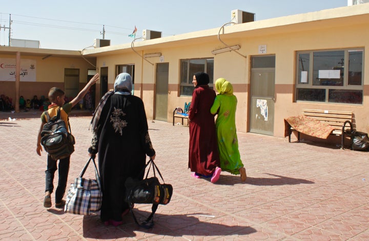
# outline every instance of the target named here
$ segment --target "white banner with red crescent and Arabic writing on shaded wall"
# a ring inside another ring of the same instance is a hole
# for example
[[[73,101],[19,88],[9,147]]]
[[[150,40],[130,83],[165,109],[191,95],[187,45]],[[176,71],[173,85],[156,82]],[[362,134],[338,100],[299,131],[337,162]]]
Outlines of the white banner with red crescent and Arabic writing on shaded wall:
[[[0,58],[0,81],[15,81],[15,59]],[[36,60],[20,60],[20,81],[36,82]]]

